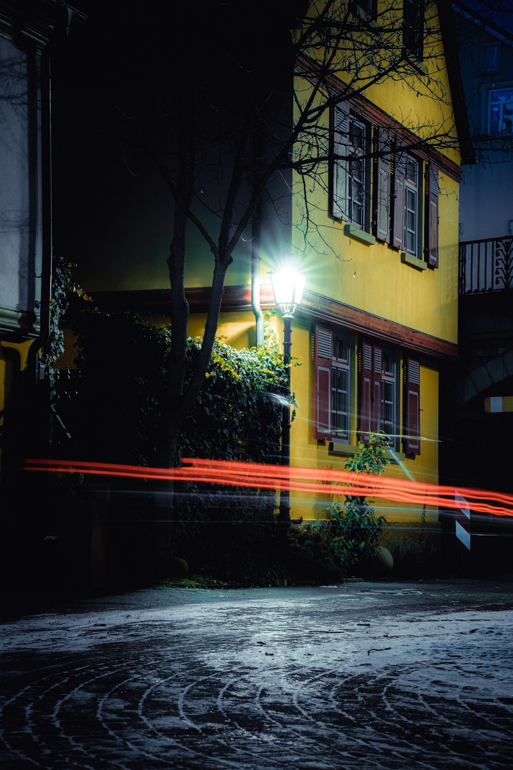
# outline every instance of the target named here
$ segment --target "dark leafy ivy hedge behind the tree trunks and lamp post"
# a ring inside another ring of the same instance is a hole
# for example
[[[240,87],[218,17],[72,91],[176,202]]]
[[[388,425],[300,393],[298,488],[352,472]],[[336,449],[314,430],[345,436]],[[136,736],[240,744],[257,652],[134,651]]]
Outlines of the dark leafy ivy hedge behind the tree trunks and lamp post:
[[[74,439],[70,457],[160,467],[170,326],[129,313],[82,311],[75,331],[78,377],[66,423]],[[189,338],[191,367],[200,346],[199,338]],[[216,340],[205,383],[182,423],[177,462],[181,457],[277,462],[286,383],[269,319],[264,346],[235,350]],[[130,504],[128,519],[144,521],[152,517],[144,503],[152,483],[113,479],[111,487],[137,484],[143,488],[134,499],[141,503]],[[275,504],[273,490],[175,483],[173,551],[193,571],[255,583],[277,561]],[[123,516],[127,511],[119,511]]]

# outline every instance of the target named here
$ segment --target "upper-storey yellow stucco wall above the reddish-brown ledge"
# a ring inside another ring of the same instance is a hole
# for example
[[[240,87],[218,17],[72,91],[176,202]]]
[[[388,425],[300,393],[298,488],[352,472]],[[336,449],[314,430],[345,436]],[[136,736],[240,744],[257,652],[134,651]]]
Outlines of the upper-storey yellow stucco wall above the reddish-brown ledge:
[[[316,3],[315,8],[323,5]],[[378,24],[390,29],[389,40],[395,39],[400,24],[401,7],[393,2],[378,2]],[[364,94],[387,115],[408,128],[412,134],[426,139],[443,155],[460,162],[458,139],[445,58],[441,47],[436,5],[426,12],[425,59],[421,70],[429,82],[409,67],[401,76],[386,77],[365,88]],[[430,32],[431,30],[431,32]],[[386,41],[385,41],[386,42]],[[397,41],[396,41],[397,42]],[[315,55],[311,52],[311,55]],[[344,72],[338,79],[351,82]],[[365,84],[365,72],[353,82]],[[311,86],[305,79],[295,82],[298,101],[308,101]],[[320,99],[316,99],[320,104]],[[296,108],[296,119],[298,119]],[[329,114],[325,109],[318,126],[321,150],[326,149]],[[415,147],[412,149],[415,153]],[[421,185],[419,185],[421,187]],[[315,179],[308,177],[308,234],[305,238],[305,203],[303,179],[295,174],[291,239],[293,250],[307,276],[308,289],[330,296],[348,305],[393,320],[452,343],[457,342],[458,303],[458,182],[447,174],[439,174],[440,193],[438,255],[439,267],[420,270],[401,263],[398,249],[387,244],[368,245],[344,233],[344,221],[328,216],[328,164],[318,166]],[[371,189],[371,197],[375,191]],[[422,218],[423,219],[423,218]],[[422,223],[423,229],[425,223]],[[424,243],[424,233],[421,233]],[[268,270],[262,265],[262,274]]]

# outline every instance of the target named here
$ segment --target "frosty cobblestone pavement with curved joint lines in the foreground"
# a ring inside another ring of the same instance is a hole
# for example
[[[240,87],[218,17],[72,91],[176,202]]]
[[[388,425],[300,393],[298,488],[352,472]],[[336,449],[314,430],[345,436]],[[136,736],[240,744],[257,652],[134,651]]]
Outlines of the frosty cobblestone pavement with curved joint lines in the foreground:
[[[156,588],[7,618],[2,768],[511,768],[512,591]]]

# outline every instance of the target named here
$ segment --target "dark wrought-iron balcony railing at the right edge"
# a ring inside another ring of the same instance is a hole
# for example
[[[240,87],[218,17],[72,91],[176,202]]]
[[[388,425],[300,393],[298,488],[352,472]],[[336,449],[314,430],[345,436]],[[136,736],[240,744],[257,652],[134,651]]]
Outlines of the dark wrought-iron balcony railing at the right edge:
[[[461,241],[459,293],[479,294],[513,288],[513,236]]]

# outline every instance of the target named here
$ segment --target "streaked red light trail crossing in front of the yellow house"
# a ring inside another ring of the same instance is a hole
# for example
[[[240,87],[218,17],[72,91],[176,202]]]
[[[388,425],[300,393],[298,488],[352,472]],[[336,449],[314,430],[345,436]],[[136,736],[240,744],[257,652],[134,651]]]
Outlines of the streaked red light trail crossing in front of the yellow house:
[[[450,509],[459,508],[459,503],[455,500],[457,491],[465,497],[475,513],[513,517],[513,495],[510,494],[468,487],[458,487],[458,490],[455,490],[455,487],[439,484],[378,477],[372,474],[355,474],[350,470],[323,470],[196,458],[182,460],[182,467],[178,468],[30,459],[25,461],[25,470],[197,481],[207,484],[225,484],[231,487],[284,489],[291,492],[323,493],[341,497],[371,496],[398,503],[433,505]]]

